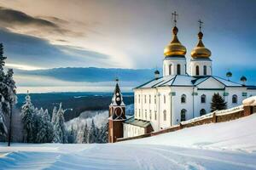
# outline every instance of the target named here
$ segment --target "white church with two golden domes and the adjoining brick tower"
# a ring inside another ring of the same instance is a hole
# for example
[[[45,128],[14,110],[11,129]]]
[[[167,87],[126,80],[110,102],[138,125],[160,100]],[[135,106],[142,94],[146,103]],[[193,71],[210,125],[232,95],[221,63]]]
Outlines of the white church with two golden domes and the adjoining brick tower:
[[[220,94],[227,108],[241,105],[243,99],[256,95],[256,86],[231,82],[212,75],[211,51],[202,42],[201,20],[198,43],[187,63],[187,49],[177,38],[177,14],[174,13],[172,41],[164,49],[163,77],[134,88],[134,116],[125,116],[125,104],[116,84],[109,105],[108,142],[160,131],[211,111],[213,94]],[[227,77],[230,76],[227,73]],[[241,77],[246,82],[245,77]]]

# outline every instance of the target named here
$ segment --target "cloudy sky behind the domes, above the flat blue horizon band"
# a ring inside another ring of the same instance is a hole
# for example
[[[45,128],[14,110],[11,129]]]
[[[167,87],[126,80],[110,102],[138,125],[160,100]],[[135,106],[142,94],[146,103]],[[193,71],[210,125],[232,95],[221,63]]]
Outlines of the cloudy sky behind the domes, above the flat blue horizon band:
[[[6,65],[22,70],[161,68],[177,11],[188,62],[200,19],[213,74],[232,71],[237,80],[250,80],[256,77],[255,6],[253,0],[0,0],[0,42]]]

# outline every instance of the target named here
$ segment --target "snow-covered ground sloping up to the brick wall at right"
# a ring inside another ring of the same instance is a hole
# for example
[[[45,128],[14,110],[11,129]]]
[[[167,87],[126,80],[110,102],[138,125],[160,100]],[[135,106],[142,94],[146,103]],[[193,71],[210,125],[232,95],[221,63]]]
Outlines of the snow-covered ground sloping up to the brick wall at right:
[[[256,114],[117,144],[1,144],[0,169],[256,169],[255,124]]]

